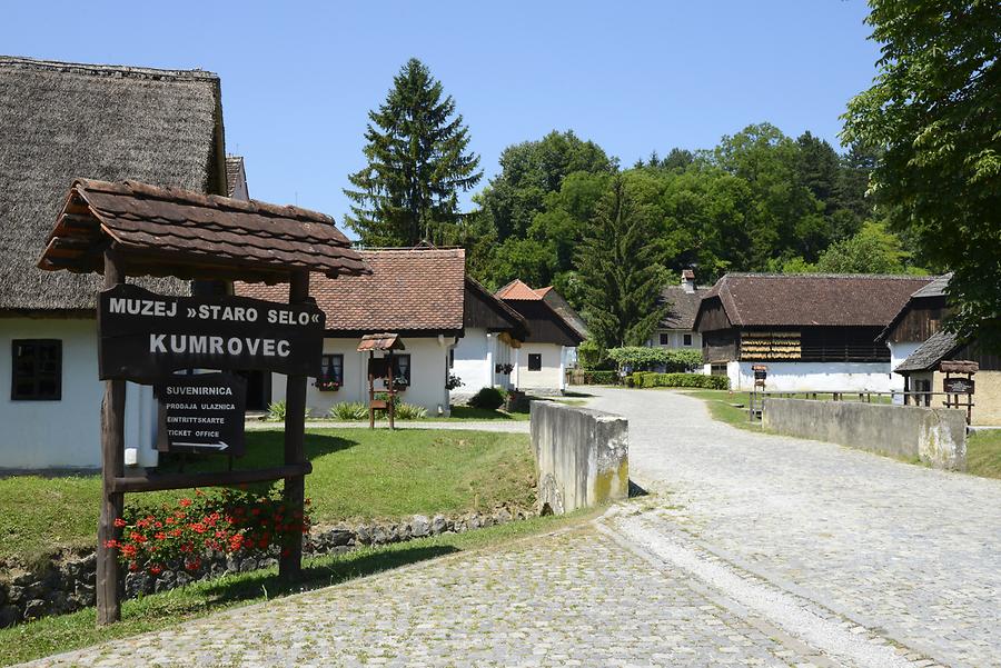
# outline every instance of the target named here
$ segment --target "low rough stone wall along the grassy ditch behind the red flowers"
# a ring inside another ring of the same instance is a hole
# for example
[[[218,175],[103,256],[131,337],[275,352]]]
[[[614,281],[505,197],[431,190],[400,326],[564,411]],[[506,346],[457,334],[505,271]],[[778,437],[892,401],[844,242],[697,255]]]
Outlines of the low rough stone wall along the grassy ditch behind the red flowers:
[[[395,522],[315,527],[304,544],[303,552],[306,557],[336,555],[361,546],[388,545],[449,532],[462,534],[534,516],[533,510],[500,506],[490,512],[436,515],[432,518],[415,515]],[[90,550],[52,560],[36,571],[8,574],[0,579],[0,628],[93,606],[96,565],[97,559]],[[176,565],[157,576],[146,571],[127,572],[125,594],[126,598],[135,598],[140,592],[166,591],[195,580],[208,580],[277,565],[277,548],[272,554],[245,557],[207,554],[204,555],[202,566],[196,571],[188,571]]]

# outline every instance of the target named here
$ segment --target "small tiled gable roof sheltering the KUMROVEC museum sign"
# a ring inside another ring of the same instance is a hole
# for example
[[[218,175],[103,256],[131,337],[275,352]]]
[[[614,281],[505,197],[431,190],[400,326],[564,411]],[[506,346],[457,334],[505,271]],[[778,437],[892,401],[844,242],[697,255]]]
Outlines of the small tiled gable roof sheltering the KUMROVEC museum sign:
[[[296,270],[330,277],[368,271],[323,213],[132,181],[78,179],[39,268],[100,272],[109,246],[128,276],[281,282]]]

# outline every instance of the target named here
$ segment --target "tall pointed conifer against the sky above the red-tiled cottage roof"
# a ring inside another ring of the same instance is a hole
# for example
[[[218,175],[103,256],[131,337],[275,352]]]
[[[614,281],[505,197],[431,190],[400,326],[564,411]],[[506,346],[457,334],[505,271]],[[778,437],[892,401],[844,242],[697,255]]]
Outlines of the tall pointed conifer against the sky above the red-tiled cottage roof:
[[[458,192],[483,177],[479,156],[466,152],[469,130],[455,100],[412,58],[368,118],[368,164],[348,177],[354,189],[344,192],[354,205],[345,223],[366,246],[442,243],[462,218]]]

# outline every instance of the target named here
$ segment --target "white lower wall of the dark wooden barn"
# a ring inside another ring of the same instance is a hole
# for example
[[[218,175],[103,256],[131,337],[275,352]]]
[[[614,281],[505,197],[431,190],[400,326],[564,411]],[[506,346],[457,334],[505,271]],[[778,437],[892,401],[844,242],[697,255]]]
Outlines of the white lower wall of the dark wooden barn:
[[[765,390],[772,391],[871,391],[889,392],[890,362],[737,362],[726,365],[730,387],[754,388],[751,367],[769,368]]]

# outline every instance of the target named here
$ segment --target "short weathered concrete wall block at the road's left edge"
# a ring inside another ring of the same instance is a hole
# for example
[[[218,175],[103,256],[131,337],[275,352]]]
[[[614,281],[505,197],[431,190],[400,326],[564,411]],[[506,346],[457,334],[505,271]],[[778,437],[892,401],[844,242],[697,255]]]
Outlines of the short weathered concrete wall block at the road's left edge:
[[[533,401],[531,411],[539,512],[548,507],[559,515],[628,497],[625,418],[554,401]]]

